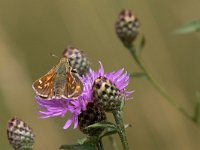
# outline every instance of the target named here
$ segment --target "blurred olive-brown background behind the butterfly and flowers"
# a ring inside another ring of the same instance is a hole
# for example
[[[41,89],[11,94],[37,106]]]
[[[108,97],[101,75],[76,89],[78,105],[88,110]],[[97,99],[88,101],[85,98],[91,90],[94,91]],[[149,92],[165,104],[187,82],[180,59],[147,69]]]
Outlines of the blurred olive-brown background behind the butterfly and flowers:
[[[63,130],[66,117],[39,119],[31,85],[58,63],[50,53],[60,56],[68,46],[83,49],[94,70],[100,60],[106,71],[139,71],[114,30],[124,8],[140,20],[147,40],[142,57],[151,73],[193,113],[195,92],[200,91],[200,34],[173,31],[200,18],[199,7],[197,0],[1,0],[0,149],[11,150],[6,124],[12,116],[34,129],[35,150],[55,150],[84,136],[78,129]],[[134,78],[128,88],[135,90],[124,112],[125,122],[132,124],[127,129],[131,150],[200,149],[200,127],[169,105],[148,81]],[[110,149],[108,139],[103,142]]]

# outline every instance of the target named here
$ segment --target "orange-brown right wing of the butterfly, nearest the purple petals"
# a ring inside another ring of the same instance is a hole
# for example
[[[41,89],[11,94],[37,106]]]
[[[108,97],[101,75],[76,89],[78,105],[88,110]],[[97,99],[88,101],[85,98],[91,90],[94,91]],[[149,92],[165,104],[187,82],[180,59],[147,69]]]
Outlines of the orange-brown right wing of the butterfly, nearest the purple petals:
[[[83,82],[77,73],[68,72],[67,82],[64,90],[64,97],[77,98],[83,91]]]

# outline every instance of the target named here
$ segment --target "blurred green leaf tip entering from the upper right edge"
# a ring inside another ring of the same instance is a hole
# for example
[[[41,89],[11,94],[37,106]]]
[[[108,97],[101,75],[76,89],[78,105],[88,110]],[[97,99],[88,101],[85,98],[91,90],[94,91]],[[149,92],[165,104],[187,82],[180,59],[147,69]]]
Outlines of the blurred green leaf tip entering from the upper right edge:
[[[197,32],[199,30],[200,30],[200,20],[194,20],[175,30],[175,33],[186,34],[191,32]]]

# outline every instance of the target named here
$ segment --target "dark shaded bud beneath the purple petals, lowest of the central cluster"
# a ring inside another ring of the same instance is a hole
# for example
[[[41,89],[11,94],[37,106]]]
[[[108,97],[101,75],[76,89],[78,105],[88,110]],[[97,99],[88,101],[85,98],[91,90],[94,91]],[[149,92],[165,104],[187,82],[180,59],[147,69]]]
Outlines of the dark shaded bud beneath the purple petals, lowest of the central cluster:
[[[79,129],[87,135],[90,136],[97,136],[101,134],[103,129],[101,128],[90,128],[87,129],[89,125],[99,123],[106,120],[106,114],[100,108],[96,107],[94,103],[88,103],[87,109],[82,111],[81,114],[78,116],[78,125]]]

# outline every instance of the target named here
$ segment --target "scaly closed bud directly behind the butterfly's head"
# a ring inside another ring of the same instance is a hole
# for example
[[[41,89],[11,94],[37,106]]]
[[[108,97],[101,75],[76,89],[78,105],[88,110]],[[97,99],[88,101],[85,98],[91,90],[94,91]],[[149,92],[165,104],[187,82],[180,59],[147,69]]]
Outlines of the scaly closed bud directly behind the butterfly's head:
[[[63,56],[68,57],[71,67],[75,69],[80,76],[88,72],[90,63],[83,51],[69,47],[63,51]]]

